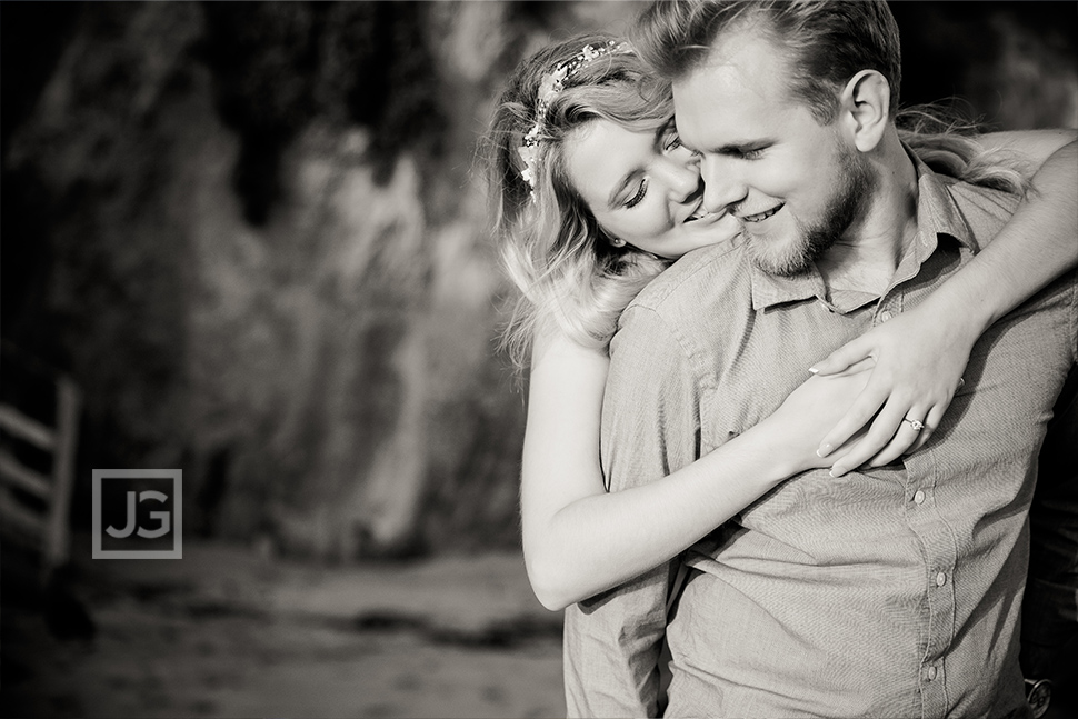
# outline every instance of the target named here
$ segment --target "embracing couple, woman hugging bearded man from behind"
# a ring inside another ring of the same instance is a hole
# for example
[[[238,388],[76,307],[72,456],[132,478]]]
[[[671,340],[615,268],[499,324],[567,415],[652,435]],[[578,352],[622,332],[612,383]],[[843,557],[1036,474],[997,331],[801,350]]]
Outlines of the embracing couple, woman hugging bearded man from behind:
[[[1074,133],[900,129],[900,77],[885,2],[695,0],[510,80],[571,715],[1027,716],[1074,633],[1078,479],[1038,477],[1078,413]]]

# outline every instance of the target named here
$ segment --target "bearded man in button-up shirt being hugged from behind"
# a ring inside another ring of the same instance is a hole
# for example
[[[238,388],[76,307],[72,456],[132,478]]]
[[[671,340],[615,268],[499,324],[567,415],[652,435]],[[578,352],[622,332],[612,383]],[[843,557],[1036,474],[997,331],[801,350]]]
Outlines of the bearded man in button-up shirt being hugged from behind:
[[[1017,198],[944,181],[892,122],[884,2],[660,2],[637,48],[672,81],[705,204],[737,247],[690,253],[611,344],[603,467],[653,480],[767,417],[807,362],[916,306]],[[1050,410],[1075,366],[1076,278],[976,344],[966,386],[901,463],[799,475],[678,562],[570,608],[571,715],[1005,717],[1028,712],[1018,627],[1028,512]],[[808,358],[808,359],[807,359]]]

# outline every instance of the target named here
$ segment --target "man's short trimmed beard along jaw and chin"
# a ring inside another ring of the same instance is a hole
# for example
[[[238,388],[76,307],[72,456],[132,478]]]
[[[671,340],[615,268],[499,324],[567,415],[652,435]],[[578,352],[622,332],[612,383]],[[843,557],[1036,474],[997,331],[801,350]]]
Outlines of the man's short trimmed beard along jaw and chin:
[[[768,274],[795,277],[812,269],[866,210],[876,176],[868,162],[852,150],[842,154],[842,171],[836,180],[835,193],[828,199],[824,217],[811,226],[793,219],[796,233],[788,242],[749,238],[752,261]]]

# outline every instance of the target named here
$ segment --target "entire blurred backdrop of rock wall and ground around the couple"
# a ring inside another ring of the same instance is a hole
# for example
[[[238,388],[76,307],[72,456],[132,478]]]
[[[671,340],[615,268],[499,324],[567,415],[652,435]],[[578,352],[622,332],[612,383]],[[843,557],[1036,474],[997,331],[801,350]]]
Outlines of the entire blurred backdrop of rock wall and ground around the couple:
[[[67,557],[2,546],[4,716],[563,712],[476,140],[641,7],[0,4],[0,399],[80,398]],[[891,7],[904,104],[1078,127],[1074,2]],[[182,560],[90,559],[94,468],[182,469]]]

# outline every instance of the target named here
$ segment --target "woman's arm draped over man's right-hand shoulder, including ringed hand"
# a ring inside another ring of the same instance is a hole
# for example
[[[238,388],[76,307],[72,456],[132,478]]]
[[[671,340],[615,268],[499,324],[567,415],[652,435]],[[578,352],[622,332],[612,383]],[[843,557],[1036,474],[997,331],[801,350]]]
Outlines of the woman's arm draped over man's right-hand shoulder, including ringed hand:
[[[986,149],[1025,156],[1032,189],[995,240],[917,308],[836,350],[814,370],[841,371],[867,357],[876,369],[849,413],[828,432],[820,456],[872,420],[871,429],[835,462],[836,477],[878,467],[916,450],[931,436],[958,389],[974,343],[996,320],[1078,263],[1078,143],[1074,130],[1000,132]],[[882,409],[881,409],[882,408]],[[914,431],[904,418],[925,422]]]

